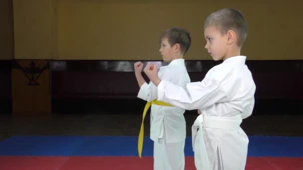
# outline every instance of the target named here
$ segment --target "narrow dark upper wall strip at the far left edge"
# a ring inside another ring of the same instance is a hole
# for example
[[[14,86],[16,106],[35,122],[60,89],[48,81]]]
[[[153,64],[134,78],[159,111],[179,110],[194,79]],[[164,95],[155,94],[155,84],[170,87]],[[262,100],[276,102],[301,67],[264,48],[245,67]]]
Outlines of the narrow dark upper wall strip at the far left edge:
[[[0,60],[13,58],[12,0],[0,0]]]

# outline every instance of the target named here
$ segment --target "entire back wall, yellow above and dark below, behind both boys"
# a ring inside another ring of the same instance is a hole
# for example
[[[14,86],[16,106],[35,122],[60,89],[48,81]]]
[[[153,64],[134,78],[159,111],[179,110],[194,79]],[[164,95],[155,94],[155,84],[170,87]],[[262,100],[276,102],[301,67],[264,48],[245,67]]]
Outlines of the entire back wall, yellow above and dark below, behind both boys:
[[[256,108],[299,114],[301,6],[300,0],[1,0],[0,112],[48,114],[63,105],[78,110],[74,100],[81,107],[94,100],[99,108],[101,98],[136,98],[130,60],[161,60],[158,37],[169,27],[191,32],[186,60],[192,81],[200,81],[218,64],[204,49],[204,19],[234,7],[249,24],[242,54],[257,85]],[[22,70],[32,63],[44,68],[36,86]]]

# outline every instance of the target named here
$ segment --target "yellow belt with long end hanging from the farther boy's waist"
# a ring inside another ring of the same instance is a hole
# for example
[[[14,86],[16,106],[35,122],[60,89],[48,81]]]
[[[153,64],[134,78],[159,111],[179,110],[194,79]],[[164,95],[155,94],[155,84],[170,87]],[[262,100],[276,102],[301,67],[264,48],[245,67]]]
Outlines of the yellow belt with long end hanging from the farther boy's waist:
[[[142,123],[141,123],[141,129],[140,129],[140,133],[139,133],[139,139],[138,139],[138,153],[139,153],[139,157],[141,158],[141,154],[142,154],[142,148],[143,148],[143,136],[144,136],[144,118],[146,113],[148,112],[149,108],[151,107],[152,104],[155,105],[160,105],[160,106],[173,106],[170,105],[168,103],[165,103],[163,101],[158,101],[158,100],[152,100],[151,102],[147,102],[145,107],[144,107],[144,111],[143,111],[143,117],[142,117]]]

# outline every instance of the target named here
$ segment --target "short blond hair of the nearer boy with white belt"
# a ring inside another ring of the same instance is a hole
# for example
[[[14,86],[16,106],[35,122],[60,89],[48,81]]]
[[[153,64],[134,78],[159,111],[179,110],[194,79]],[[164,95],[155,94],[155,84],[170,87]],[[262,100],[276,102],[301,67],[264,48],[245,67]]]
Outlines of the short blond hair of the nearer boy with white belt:
[[[222,34],[233,30],[237,34],[237,45],[242,47],[247,36],[247,22],[242,13],[233,8],[223,8],[211,13],[204,22],[204,29],[215,26]]]

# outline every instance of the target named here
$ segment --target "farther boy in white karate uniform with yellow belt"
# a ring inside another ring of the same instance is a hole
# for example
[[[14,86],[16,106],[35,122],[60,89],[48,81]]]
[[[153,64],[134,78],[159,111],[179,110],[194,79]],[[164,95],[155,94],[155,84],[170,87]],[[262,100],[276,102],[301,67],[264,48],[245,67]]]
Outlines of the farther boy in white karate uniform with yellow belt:
[[[159,52],[163,61],[170,63],[159,69],[157,74],[159,78],[183,87],[190,83],[183,59],[190,44],[189,32],[184,29],[170,28],[162,33]],[[157,87],[152,82],[147,84],[142,77],[143,63],[137,62],[134,67],[140,86],[138,97],[148,102],[158,98]],[[153,141],[154,170],[184,170],[186,137],[184,112],[182,108],[152,102],[150,138]],[[139,155],[141,157],[140,151]]]

